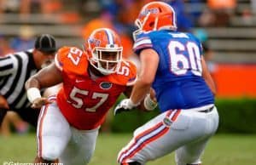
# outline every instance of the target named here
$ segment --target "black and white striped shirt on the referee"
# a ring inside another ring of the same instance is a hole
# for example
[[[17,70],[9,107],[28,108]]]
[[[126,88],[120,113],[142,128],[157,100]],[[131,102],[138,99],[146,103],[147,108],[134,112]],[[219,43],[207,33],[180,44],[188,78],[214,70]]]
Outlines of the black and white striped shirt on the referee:
[[[13,110],[30,105],[26,98],[26,80],[38,71],[32,49],[0,58],[0,94]]]

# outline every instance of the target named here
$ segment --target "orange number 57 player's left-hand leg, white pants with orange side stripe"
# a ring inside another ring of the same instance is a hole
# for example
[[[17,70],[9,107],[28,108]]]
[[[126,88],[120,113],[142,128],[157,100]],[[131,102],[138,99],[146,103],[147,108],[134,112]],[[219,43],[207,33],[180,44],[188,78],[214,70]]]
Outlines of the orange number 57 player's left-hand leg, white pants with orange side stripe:
[[[57,105],[45,105],[38,117],[38,161],[54,162],[59,158],[71,134],[70,126]]]

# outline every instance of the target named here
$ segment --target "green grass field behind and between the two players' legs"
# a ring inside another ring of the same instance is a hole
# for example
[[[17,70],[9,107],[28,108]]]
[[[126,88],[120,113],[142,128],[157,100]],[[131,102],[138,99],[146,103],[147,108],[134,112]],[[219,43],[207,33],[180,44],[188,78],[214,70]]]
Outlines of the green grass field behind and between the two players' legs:
[[[113,165],[119,149],[131,134],[100,134],[90,165]],[[3,162],[32,162],[36,154],[35,134],[0,137],[0,165]],[[173,154],[148,165],[175,165]],[[207,145],[204,165],[256,165],[256,135],[218,134]],[[11,165],[11,163],[9,163]],[[12,164],[13,165],[13,164]]]

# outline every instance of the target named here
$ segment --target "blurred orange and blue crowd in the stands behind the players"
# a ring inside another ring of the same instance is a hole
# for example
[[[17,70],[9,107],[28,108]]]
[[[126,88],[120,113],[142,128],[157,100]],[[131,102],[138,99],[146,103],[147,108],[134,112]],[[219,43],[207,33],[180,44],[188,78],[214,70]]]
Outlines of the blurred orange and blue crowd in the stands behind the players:
[[[137,17],[138,9],[150,1],[152,0],[79,0],[76,2],[68,0],[0,0],[0,15],[15,13],[20,14],[20,19],[24,19],[30,14],[46,16],[63,14],[60,17],[63,21],[74,20],[84,24],[81,31],[83,37],[97,27],[111,27],[121,34],[123,43],[125,43],[125,56],[129,56],[132,54],[131,33],[134,31],[134,20]],[[176,10],[178,30],[190,32],[195,26],[229,26],[230,16],[236,12],[237,5],[236,0],[164,1],[171,4]],[[254,6],[255,3],[252,0],[252,9],[255,9]],[[248,17],[250,14],[248,11],[253,11],[252,9],[245,9],[243,12],[245,17]],[[72,10],[73,14],[67,12],[68,10]],[[6,54],[9,51],[29,48],[32,46],[32,37],[33,30],[29,26],[20,27],[20,36],[11,38],[11,41],[0,33],[1,43],[3,42],[0,53]]]

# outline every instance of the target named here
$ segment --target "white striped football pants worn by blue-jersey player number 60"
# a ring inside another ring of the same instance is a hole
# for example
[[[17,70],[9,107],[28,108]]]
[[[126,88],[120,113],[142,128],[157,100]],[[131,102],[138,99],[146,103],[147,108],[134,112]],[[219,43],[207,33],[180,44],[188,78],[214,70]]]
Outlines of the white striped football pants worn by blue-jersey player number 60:
[[[207,105],[190,110],[170,110],[137,128],[130,143],[119,151],[118,162],[140,162],[176,151],[177,165],[201,163],[208,139],[218,128],[216,107]]]

